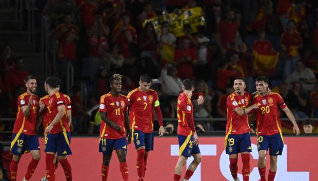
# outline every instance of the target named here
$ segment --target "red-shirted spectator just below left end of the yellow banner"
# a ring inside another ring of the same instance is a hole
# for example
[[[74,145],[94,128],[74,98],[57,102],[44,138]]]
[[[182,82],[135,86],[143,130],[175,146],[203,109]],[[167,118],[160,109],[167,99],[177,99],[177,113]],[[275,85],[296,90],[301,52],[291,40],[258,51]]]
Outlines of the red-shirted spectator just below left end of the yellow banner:
[[[149,56],[157,65],[158,63],[155,59],[157,37],[151,22],[146,23],[145,28],[138,38],[138,45],[141,50],[141,57]]]

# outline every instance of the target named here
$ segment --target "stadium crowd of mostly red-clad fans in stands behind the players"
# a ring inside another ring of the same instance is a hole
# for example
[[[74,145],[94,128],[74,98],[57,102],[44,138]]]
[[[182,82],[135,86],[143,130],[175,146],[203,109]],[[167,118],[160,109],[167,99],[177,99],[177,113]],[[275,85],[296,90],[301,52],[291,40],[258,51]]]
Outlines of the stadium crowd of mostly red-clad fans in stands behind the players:
[[[182,36],[171,31],[171,19],[160,22],[160,29],[144,24],[149,18],[196,7],[202,8],[205,23],[195,28],[184,24]],[[226,118],[235,77],[244,77],[252,93],[254,78],[267,75],[271,91],[282,95],[296,119],[318,118],[317,1],[48,0],[43,14],[49,17],[52,41],[58,42],[57,75],[65,80],[66,65],[74,67],[74,133],[98,133],[99,97],[110,90],[108,79],[115,73],[124,75],[125,95],[137,87],[141,74],[150,74],[165,118],[176,118],[182,80],[195,79],[195,91],[205,98],[203,106],[194,102],[198,132],[225,130],[225,120],[200,118]],[[165,56],[167,47],[172,59]],[[25,91],[23,79],[29,75],[23,58],[12,57],[12,51],[6,44],[0,58],[0,101],[6,105],[0,108],[1,117],[15,116],[17,95]],[[88,89],[88,105],[83,104],[81,83]],[[65,88],[64,81],[61,92]],[[176,132],[176,124],[166,122],[166,132]],[[292,130],[292,125],[282,124],[285,132]]]

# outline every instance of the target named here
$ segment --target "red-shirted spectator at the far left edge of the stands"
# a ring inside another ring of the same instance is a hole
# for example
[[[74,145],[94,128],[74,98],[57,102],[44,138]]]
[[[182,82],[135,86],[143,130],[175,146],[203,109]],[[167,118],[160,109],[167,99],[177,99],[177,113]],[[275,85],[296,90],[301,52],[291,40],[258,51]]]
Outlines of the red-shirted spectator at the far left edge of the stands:
[[[15,59],[12,57],[11,53],[11,46],[5,44],[2,49],[2,57],[0,57],[0,71],[3,74],[15,67]]]

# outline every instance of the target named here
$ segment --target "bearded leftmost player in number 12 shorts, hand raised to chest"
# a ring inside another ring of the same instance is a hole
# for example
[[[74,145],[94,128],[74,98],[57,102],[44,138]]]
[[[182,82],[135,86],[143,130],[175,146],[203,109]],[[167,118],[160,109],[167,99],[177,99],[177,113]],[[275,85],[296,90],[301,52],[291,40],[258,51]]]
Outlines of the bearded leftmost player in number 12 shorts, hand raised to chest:
[[[41,158],[36,135],[36,120],[38,112],[42,112],[43,109],[39,108],[38,97],[35,95],[37,88],[36,77],[33,75],[27,76],[25,78],[25,86],[27,92],[19,95],[17,100],[17,114],[10,148],[13,154],[10,165],[10,177],[12,181],[16,181],[17,165],[22,154],[30,151],[32,155],[27,173],[23,179],[24,181],[31,178]]]

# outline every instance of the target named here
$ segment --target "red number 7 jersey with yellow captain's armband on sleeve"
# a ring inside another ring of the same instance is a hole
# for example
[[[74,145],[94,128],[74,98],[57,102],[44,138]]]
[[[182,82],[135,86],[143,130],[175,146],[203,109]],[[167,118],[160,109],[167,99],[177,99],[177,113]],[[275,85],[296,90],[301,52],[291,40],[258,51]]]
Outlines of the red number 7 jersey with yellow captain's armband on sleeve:
[[[144,133],[153,132],[153,108],[160,105],[156,91],[149,89],[142,92],[138,88],[127,95],[131,103],[129,119],[131,129],[140,130]]]

